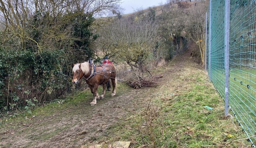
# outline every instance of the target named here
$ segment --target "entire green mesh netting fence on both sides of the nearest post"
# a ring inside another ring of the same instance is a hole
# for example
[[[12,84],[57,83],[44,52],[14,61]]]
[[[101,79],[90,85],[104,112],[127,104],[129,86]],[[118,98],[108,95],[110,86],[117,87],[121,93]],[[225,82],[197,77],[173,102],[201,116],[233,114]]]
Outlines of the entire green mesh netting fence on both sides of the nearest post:
[[[210,6],[211,61],[209,76],[225,95],[225,1]],[[229,108],[247,137],[256,134],[256,0],[230,1]],[[253,142],[256,138],[248,140]]]

